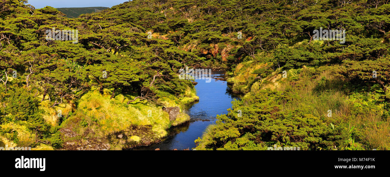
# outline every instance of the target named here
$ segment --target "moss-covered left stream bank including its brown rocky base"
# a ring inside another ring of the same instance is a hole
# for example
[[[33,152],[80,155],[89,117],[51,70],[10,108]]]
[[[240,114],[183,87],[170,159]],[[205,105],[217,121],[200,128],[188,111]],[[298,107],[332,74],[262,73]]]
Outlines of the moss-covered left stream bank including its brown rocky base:
[[[104,95],[92,89],[80,98],[73,113],[64,113],[60,129],[63,149],[121,150],[157,143],[171,126],[190,120],[184,109],[199,100],[193,88],[187,88],[182,98],[170,95],[157,103],[137,99],[126,104],[136,96],[118,94],[110,99],[111,94],[109,89]],[[170,120],[163,106],[178,106],[180,113]]]

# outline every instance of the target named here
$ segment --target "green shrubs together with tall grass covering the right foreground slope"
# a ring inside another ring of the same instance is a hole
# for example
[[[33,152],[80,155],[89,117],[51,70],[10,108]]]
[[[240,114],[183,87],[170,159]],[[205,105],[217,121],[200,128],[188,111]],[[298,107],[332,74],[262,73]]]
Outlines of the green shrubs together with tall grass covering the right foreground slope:
[[[288,73],[295,79],[281,78],[279,91],[254,89],[232,102],[229,114],[218,116],[216,125],[195,141],[197,150],[266,150],[275,144],[302,150],[388,149],[389,139],[378,133],[389,131],[388,101],[380,92],[346,85],[338,66]],[[216,136],[223,131],[223,138]],[[241,138],[248,144],[239,145]]]

